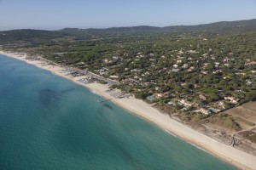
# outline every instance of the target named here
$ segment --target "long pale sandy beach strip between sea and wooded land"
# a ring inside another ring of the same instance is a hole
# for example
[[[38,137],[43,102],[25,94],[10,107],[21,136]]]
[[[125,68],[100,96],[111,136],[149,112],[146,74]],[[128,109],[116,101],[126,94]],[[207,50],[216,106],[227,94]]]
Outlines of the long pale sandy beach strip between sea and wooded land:
[[[111,99],[114,104],[121,106],[126,111],[131,112],[131,114],[154,123],[162,130],[166,131],[166,133],[170,133],[174,137],[183,139],[186,142],[195,145],[195,147],[199,147],[199,149],[205,150],[213,156],[217,156],[221,160],[235,165],[236,167],[241,169],[256,169],[256,156],[237,150],[230,145],[220,143],[207,135],[199,133],[186,125],[173,120],[169,116],[161,114],[160,111],[156,110],[151,105],[148,105],[141,99],[135,99],[134,97],[116,99],[106,92],[109,89],[107,84],[100,84],[96,82],[84,84],[82,82],[78,82],[78,77],[68,75],[67,72],[63,71],[65,68],[61,67],[61,65],[44,65],[46,61],[29,60],[26,59],[26,55],[16,55],[12,53],[5,53],[3,51],[0,51],[0,54],[23,60],[28,64],[50,71],[56,76],[67,78],[68,80],[82,85],[85,88],[89,88],[91,93],[100,95],[105,99]]]

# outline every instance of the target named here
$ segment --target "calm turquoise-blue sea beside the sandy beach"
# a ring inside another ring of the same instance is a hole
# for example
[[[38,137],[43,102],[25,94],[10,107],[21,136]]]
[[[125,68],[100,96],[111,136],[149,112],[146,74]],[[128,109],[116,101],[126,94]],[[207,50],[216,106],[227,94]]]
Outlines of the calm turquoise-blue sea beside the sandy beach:
[[[98,99],[0,55],[0,169],[236,169]]]

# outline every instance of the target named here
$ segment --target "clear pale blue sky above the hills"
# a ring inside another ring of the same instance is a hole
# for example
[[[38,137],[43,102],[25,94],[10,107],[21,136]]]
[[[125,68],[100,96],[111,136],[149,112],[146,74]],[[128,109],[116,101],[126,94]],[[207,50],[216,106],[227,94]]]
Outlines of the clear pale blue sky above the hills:
[[[256,19],[256,0],[0,0],[0,30],[189,26]]]

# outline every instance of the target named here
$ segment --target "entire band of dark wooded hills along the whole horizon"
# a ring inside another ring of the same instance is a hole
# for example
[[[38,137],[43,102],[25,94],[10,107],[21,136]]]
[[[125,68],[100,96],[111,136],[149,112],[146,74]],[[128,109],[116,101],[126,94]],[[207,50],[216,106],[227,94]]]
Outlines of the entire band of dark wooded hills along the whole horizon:
[[[161,34],[170,33],[237,33],[256,31],[256,19],[253,20],[238,20],[238,21],[223,21],[212,24],[204,24],[198,26],[132,26],[132,27],[112,27],[106,29],[79,29],[79,28],[64,28],[58,31],[44,30],[12,30],[0,31],[0,43],[8,42],[35,42],[38,40],[51,39],[55,37],[83,37],[85,39],[93,39],[98,37],[118,37],[118,36],[158,36]]]

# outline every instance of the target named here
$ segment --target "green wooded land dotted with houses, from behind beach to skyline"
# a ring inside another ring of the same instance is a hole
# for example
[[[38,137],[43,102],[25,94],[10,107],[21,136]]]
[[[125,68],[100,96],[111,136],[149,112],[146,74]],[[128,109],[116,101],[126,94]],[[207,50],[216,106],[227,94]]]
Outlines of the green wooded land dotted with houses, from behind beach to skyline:
[[[161,107],[172,105],[188,116],[201,108],[214,113],[256,99],[256,20],[0,31],[0,44],[4,50],[43,55],[102,77],[116,76],[119,83],[113,88]],[[218,122],[239,128],[230,117]]]

